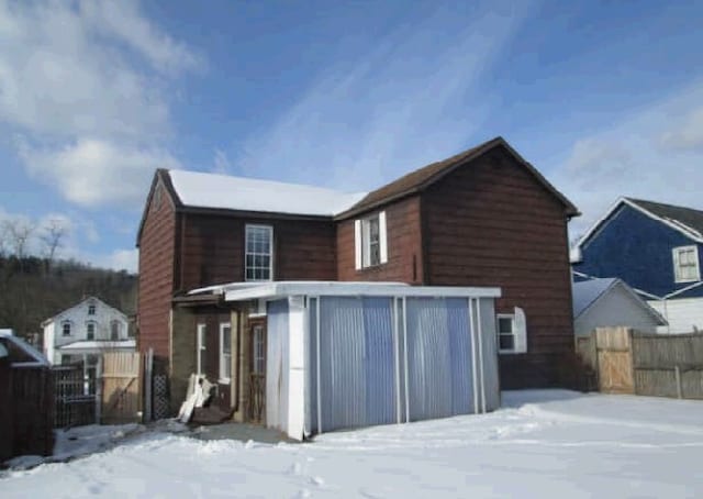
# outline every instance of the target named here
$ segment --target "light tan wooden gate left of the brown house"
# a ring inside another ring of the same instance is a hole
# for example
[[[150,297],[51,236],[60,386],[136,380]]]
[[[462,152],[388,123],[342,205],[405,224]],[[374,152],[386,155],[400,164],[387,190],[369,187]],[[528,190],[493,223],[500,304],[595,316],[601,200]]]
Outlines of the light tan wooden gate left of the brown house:
[[[142,420],[142,355],[111,352],[102,355],[102,422],[121,424]]]

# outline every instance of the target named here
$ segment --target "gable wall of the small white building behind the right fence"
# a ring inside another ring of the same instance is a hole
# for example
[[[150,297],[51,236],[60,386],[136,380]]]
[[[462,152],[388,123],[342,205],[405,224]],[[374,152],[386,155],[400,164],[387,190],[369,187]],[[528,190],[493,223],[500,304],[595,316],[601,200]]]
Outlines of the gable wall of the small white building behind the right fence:
[[[589,334],[595,328],[624,325],[645,333],[657,332],[657,321],[643,303],[622,285],[614,286],[599,297],[581,315],[573,329],[576,334]]]

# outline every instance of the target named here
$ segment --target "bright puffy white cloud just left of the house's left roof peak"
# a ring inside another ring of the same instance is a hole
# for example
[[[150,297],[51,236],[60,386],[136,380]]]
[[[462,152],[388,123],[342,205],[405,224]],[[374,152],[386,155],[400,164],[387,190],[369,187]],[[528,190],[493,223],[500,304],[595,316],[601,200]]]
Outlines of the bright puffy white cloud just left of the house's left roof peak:
[[[55,148],[20,147],[29,173],[55,185],[62,195],[81,206],[123,203],[141,207],[154,169],[178,168],[178,160],[158,147],[118,145],[82,138]]]

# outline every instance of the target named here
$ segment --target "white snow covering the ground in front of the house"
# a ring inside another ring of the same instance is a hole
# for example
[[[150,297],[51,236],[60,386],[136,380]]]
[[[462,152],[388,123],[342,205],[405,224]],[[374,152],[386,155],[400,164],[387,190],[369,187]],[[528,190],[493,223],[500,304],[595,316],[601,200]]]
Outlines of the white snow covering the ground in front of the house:
[[[701,497],[703,402],[563,390],[503,409],[323,434],[308,444],[149,432],[10,472],[14,497]]]

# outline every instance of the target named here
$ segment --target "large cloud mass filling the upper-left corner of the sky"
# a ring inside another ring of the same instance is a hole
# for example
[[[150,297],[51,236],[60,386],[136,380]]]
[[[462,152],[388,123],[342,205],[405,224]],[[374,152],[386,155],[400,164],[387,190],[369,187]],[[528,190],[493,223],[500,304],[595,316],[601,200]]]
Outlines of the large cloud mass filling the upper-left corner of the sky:
[[[166,151],[167,96],[201,58],[136,1],[0,0],[0,123],[29,173],[83,206],[132,203]]]

